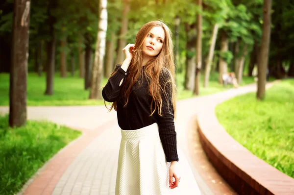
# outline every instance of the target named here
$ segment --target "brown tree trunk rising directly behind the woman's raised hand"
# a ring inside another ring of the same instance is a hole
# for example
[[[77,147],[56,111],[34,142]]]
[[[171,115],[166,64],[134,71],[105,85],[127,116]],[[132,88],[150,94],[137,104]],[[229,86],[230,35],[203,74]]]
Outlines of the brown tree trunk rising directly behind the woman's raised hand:
[[[127,26],[128,26],[128,17],[127,14],[130,10],[129,0],[123,0],[123,20],[122,20],[122,27],[121,32],[119,36],[119,44],[118,44],[118,53],[117,53],[117,59],[116,64],[120,64],[123,62],[123,48],[126,46],[125,42],[125,34],[127,32]]]

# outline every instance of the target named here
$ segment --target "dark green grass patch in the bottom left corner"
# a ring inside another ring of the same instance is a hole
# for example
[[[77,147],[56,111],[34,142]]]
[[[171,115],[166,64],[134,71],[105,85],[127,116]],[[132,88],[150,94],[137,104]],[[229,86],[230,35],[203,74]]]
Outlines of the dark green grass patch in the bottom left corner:
[[[45,121],[27,121],[23,127],[10,128],[8,115],[0,116],[0,194],[19,192],[44,163],[80,135],[79,131]]]

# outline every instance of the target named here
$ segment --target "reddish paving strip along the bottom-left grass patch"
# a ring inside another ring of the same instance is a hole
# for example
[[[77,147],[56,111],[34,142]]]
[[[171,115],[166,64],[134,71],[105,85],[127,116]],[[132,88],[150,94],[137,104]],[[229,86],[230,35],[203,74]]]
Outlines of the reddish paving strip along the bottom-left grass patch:
[[[105,129],[116,123],[117,120],[106,122],[96,130],[74,128],[83,132],[83,135],[74,140],[68,146],[61,149],[49,162],[41,168],[34,180],[27,185],[24,195],[51,195],[60,177],[73,162],[75,157],[86,148]]]

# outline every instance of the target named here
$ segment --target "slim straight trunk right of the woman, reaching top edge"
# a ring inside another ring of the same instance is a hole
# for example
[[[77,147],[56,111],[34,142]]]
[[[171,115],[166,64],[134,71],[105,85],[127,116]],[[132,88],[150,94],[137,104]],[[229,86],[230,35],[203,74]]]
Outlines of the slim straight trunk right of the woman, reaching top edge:
[[[199,95],[200,88],[200,70],[202,64],[202,0],[197,0],[199,13],[197,14],[197,42],[196,42],[196,78],[194,94]]]

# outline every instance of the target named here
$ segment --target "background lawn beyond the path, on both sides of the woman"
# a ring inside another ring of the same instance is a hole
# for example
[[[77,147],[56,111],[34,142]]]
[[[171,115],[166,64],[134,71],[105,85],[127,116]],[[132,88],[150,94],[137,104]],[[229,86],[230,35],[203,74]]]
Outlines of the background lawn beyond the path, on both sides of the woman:
[[[77,74],[76,74],[77,75]],[[184,90],[184,73],[177,75],[177,99],[195,97],[191,91]],[[213,94],[231,88],[231,85],[223,87],[218,83],[218,73],[210,76],[209,87],[204,89],[204,76],[201,76],[200,96]],[[242,85],[254,82],[253,77],[244,77]],[[107,79],[104,78],[104,86]],[[45,96],[45,73],[39,77],[36,73],[28,73],[27,80],[27,105],[28,106],[61,106],[61,105],[104,105],[104,100],[88,99],[89,90],[84,90],[84,79],[78,76],[61,78],[59,73],[54,78],[54,94]],[[9,105],[9,74],[0,73],[0,105]]]

